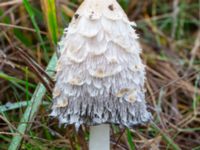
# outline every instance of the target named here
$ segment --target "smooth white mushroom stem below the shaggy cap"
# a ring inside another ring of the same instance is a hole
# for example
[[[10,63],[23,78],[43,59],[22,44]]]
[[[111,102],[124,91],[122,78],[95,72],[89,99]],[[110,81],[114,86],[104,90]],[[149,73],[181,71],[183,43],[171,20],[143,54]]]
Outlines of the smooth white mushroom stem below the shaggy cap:
[[[90,127],[89,150],[110,150],[110,126],[108,124]]]

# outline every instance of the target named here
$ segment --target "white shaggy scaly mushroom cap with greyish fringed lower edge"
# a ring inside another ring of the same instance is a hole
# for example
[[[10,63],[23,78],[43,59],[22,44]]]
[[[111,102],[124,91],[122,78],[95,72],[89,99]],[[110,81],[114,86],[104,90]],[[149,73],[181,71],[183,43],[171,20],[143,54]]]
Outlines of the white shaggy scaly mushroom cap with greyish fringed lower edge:
[[[51,116],[133,127],[151,119],[138,36],[116,0],[85,0],[59,43]]]

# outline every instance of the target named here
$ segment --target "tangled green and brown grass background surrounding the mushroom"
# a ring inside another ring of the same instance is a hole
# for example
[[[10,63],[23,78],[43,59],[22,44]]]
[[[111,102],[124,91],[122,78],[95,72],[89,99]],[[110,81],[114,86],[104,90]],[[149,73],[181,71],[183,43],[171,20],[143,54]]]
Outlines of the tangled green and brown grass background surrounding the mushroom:
[[[112,149],[200,150],[200,1],[119,2],[138,25],[154,123],[112,126]],[[87,127],[77,134],[48,117],[56,43],[80,3],[0,0],[1,150],[87,149]]]

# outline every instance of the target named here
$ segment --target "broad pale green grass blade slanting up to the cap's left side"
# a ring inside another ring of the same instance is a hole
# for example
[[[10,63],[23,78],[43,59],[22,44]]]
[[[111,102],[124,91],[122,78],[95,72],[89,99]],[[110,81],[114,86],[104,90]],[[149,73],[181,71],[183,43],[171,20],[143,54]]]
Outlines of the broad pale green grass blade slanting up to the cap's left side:
[[[48,75],[52,76],[54,74],[52,72],[52,70],[55,70],[56,62],[57,62],[57,58],[56,58],[56,55],[54,54],[48,64],[48,67],[46,70]],[[31,99],[32,105],[28,106],[26,108],[26,111],[25,111],[23,117],[21,118],[20,124],[17,128],[17,133],[19,133],[21,135],[17,135],[15,137],[13,137],[13,139],[10,143],[10,146],[9,146],[9,150],[19,149],[23,135],[25,134],[27,127],[30,125],[28,122],[32,122],[34,120],[35,115],[42,103],[42,98],[45,95],[45,92],[46,92],[46,89],[45,89],[44,85],[38,84],[38,86],[32,96],[32,99]]]

